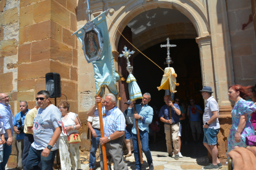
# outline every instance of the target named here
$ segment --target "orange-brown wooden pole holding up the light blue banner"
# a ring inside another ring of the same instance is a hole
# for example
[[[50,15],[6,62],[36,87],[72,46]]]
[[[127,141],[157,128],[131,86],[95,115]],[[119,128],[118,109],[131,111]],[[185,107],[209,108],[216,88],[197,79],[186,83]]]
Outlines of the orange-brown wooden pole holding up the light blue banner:
[[[100,95],[98,95],[100,97]],[[103,126],[103,118],[102,118],[102,111],[101,111],[101,102],[97,102],[98,104],[98,110],[99,110],[99,118],[100,118],[100,136],[104,137],[104,126]],[[101,152],[103,155],[103,166],[104,170],[108,170],[108,161],[106,159],[106,147],[105,144],[101,145]]]

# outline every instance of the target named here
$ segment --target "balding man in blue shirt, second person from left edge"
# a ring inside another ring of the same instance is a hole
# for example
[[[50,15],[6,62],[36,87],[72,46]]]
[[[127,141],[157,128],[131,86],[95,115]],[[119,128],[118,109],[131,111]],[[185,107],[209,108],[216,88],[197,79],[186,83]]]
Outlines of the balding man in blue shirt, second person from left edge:
[[[24,120],[27,115],[28,103],[26,101],[20,102],[20,112],[17,113],[14,117],[14,131],[16,133],[15,147],[17,150],[17,169],[22,169],[22,154],[24,147]]]

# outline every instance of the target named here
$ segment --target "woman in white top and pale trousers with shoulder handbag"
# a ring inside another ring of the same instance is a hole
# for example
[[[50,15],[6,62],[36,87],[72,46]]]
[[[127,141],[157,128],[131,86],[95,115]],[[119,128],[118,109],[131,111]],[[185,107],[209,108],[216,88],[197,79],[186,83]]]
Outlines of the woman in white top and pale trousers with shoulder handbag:
[[[79,132],[77,131],[81,127],[81,123],[77,114],[69,112],[69,102],[59,102],[59,111],[61,111],[62,132],[59,137],[59,155],[61,157],[61,169],[65,170],[77,170],[81,168],[80,156],[79,156]],[[71,141],[72,140],[72,141]],[[75,142],[70,144],[70,142]],[[81,142],[81,140],[80,140]]]

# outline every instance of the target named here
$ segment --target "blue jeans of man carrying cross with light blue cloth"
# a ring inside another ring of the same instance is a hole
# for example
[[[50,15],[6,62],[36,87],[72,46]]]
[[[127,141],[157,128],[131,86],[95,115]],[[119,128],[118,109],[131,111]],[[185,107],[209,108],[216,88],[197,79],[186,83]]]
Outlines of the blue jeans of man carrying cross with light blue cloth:
[[[148,147],[148,132],[140,130],[140,141],[142,143],[142,151],[145,153],[145,156],[148,161],[148,165],[150,165],[153,160],[151,156],[151,152]],[[137,134],[132,133],[132,142],[134,144],[134,158],[135,158],[135,166],[137,169],[142,169],[142,164],[140,164],[140,155],[139,155],[139,144],[137,142]]]

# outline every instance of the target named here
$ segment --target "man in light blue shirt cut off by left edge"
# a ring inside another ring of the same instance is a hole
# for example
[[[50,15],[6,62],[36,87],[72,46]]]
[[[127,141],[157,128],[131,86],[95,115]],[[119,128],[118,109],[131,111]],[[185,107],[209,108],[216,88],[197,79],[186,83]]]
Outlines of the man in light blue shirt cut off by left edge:
[[[9,156],[12,153],[12,134],[14,132],[14,124],[13,124],[13,116],[11,107],[9,105],[9,96],[7,94],[1,93],[0,94],[0,121],[4,123],[4,138],[6,140],[6,144],[3,144],[4,155],[3,160],[0,165],[0,170],[4,170],[9,159]]]

